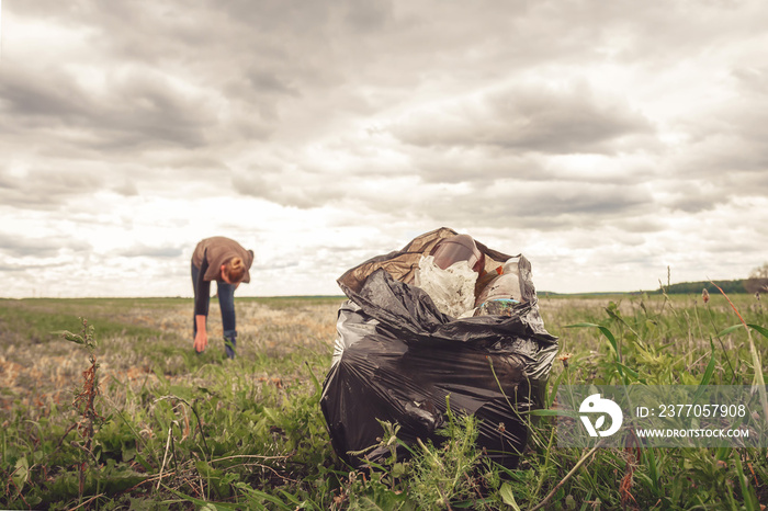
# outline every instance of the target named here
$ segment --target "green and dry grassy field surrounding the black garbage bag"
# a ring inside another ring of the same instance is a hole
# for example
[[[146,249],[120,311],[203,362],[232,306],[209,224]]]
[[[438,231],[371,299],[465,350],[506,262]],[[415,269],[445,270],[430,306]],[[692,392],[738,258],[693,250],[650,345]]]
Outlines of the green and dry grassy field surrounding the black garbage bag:
[[[755,296],[731,299],[747,323],[768,323]],[[517,470],[486,463],[472,442],[476,424],[463,418],[450,422],[440,448],[372,474],[351,470],[332,452],[318,406],[341,302],[239,298],[238,357],[229,361],[215,338],[215,300],[208,349],[196,355],[191,299],[0,299],[0,508],[738,510],[768,502],[765,450],[587,453],[558,448],[546,418],[531,427]],[[741,320],[720,295],[708,304],[682,295],[555,296],[540,308],[561,339],[550,399],[563,384],[750,385],[756,368],[765,372],[768,339],[752,329],[753,351],[747,329],[730,328]],[[93,350],[52,333],[81,333],[79,317],[94,326]],[[573,327],[584,323],[605,329]]]

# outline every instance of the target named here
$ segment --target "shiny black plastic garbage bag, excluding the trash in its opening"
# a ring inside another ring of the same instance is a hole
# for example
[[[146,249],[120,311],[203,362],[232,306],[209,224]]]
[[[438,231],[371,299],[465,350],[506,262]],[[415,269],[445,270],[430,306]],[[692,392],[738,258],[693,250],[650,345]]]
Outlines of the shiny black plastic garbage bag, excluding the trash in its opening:
[[[478,445],[492,459],[517,466],[529,433],[520,412],[543,406],[557,339],[544,329],[522,256],[522,296],[508,316],[456,319],[413,285],[421,256],[455,234],[448,228],[425,234],[338,280],[349,299],[338,313],[320,407],[334,450],[352,466],[389,456],[388,448],[370,450],[383,435],[379,420],[398,423],[406,444],[419,438],[439,444],[443,439],[436,430],[447,406],[479,419]],[[488,270],[511,258],[476,245]],[[350,454],[365,450],[364,458]]]

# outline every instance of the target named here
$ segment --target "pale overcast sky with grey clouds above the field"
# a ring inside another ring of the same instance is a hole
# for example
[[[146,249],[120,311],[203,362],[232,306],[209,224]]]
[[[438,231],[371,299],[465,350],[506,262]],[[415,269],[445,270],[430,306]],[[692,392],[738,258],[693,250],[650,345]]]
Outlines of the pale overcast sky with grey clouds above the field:
[[[0,296],[340,294],[441,226],[538,289],[768,261],[768,3],[4,0]]]

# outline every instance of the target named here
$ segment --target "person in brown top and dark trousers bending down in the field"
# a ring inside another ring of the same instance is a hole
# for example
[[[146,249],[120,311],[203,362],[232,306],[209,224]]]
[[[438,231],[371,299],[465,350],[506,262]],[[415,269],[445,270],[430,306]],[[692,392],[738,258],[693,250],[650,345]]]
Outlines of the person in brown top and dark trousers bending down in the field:
[[[194,349],[205,351],[208,344],[206,320],[211,302],[211,281],[216,281],[218,306],[222,309],[224,349],[229,359],[235,357],[237,328],[235,321],[235,289],[240,282],[250,282],[253,251],[244,249],[237,241],[215,236],[197,243],[192,253],[192,287],[194,289],[194,319],[192,331]]]

